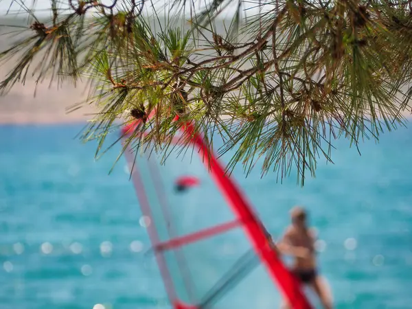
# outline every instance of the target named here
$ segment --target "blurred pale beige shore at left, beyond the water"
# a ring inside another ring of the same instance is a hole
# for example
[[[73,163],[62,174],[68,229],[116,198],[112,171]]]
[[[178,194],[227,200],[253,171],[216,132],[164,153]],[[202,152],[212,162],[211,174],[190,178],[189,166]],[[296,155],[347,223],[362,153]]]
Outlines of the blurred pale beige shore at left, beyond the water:
[[[4,19],[0,16],[0,52],[21,38],[19,28],[1,25],[27,26],[27,24],[22,19]],[[39,61],[40,58],[35,58],[31,68],[36,67]],[[14,65],[10,62],[1,62],[0,80],[4,80]],[[76,87],[67,82],[58,89],[56,82],[49,86],[49,79],[38,84],[36,88],[35,79],[31,78],[29,73],[25,84],[18,82],[8,93],[0,95],[0,124],[85,122],[93,117],[91,113],[96,113],[95,108],[82,105],[82,108],[72,113],[67,113],[67,108],[84,102],[87,98],[87,90],[86,85],[81,82]]]

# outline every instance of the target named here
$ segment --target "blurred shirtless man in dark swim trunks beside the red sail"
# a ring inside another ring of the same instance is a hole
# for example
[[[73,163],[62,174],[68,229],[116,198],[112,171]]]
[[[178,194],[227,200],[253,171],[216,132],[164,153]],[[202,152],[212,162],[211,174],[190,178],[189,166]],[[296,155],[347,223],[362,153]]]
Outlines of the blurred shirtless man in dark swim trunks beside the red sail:
[[[314,242],[316,234],[308,227],[307,214],[302,207],[294,207],[290,211],[292,224],[286,229],[277,248],[285,255],[293,255],[295,262],[292,266],[293,273],[302,284],[310,286],[319,296],[325,309],[332,308],[332,300],[325,282],[317,272],[316,253]]]

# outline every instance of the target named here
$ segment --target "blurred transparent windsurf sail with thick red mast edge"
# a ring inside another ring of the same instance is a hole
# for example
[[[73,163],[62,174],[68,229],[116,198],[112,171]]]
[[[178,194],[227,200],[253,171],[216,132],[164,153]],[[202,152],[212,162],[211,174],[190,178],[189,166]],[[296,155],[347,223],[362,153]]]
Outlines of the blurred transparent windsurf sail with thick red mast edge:
[[[124,138],[138,125],[126,126]],[[282,299],[311,308],[238,185],[191,124],[182,130],[192,136],[193,156],[179,156],[176,146],[161,164],[150,148],[124,152],[173,308],[266,309]],[[176,193],[175,179],[187,174],[201,185]]]

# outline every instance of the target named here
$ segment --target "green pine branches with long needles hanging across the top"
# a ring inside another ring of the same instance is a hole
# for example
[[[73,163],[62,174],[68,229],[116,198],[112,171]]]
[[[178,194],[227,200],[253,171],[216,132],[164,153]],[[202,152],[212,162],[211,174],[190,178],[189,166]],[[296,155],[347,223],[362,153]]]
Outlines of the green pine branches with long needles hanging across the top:
[[[404,124],[412,0],[212,0],[201,8],[175,0],[162,17],[147,0],[51,0],[45,21],[22,1],[14,4],[31,23],[1,51],[1,62],[16,65],[0,89],[6,95],[28,72],[37,82],[86,78],[83,104],[99,113],[82,139],[98,139],[96,156],[119,124],[140,119],[127,143],[166,158],[191,121],[209,146],[216,134],[224,139],[219,154],[236,150],[229,171],[241,163],[247,174],[262,159],[262,174],[282,179],[297,168],[303,185],[319,158],[332,161],[336,137],[358,146]],[[218,31],[229,7],[236,12]]]

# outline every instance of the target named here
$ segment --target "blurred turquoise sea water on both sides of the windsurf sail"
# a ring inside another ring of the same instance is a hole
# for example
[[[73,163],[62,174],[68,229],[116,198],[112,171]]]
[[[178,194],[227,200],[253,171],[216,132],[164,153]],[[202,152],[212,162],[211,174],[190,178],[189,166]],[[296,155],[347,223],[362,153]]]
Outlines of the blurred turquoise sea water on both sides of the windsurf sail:
[[[95,162],[95,144],[73,139],[81,128],[0,126],[0,308],[169,308],[126,161],[108,175],[117,151]],[[362,156],[335,146],[303,189],[235,176],[275,236],[290,207],[309,209],[336,308],[411,308],[412,130]]]

